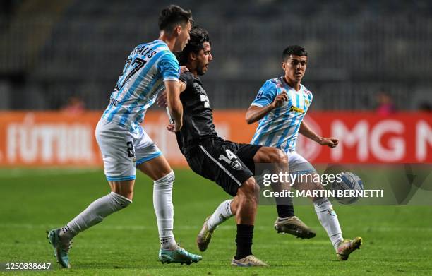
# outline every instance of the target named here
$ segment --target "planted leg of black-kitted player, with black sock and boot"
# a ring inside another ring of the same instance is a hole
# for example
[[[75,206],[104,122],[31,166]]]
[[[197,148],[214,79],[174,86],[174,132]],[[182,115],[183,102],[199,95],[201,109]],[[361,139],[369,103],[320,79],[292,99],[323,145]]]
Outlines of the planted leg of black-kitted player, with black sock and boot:
[[[234,266],[268,266],[252,254],[253,224],[255,223],[256,208],[258,205],[258,185],[250,177],[237,191],[231,204],[232,213],[236,216],[237,236],[236,256],[232,258]]]

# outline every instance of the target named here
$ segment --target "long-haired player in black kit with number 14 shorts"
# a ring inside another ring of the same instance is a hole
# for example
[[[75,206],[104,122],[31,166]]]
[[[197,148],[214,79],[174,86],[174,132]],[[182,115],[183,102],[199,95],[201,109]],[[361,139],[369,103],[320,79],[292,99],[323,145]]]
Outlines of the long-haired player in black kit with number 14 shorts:
[[[184,50],[176,55],[180,65],[188,68],[179,81],[184,114],[183,127],[176,132],[177,142],[193,172],[215,181],[234,197],[221,203],[205,221],[205,233],[198,235],[198,247],[201,251],[207,248],[214,231],[212,224],[220,224],[234,215],[237,250],[232,265],[267,266],[251,250],[259,191],[251,169],[254,163],[272,163],[282,164],[287,171],[287,155],[277,148],[234,143],[217,135],[210,102],[198,77],[208,71],[212,61],[210,38],[199,27],[192,28],[190,37]],[[163,106],[166,99],[158,101]],[[167,129],[174,131],[174,124]]]

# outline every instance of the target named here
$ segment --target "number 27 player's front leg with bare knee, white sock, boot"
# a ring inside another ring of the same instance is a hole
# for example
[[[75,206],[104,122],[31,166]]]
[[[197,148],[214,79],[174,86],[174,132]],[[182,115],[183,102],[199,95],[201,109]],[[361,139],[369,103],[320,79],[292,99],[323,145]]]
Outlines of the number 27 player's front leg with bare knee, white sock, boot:
[[[160,238],[159,260],[161,263],[198,263],[203,257],[189,253],[181,248],[174,239],[174,205],[172,204],[172,186],[174,172],[162,156],[138,165],[153,182],[153,208],[155,208],[157,229]]]

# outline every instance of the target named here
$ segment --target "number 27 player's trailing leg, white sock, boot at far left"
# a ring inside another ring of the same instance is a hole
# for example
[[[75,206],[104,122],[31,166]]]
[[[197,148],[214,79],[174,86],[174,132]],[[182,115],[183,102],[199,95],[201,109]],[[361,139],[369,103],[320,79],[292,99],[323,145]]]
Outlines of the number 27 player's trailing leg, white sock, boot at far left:
[[[133,181],[119,182],[128,182],[124,184],[124,190],[127,186],[133,188]],[[54,256],[56,256],[62,268],[71,268],[68,253],[74,236],[102,222],[107,215],[111,215],[113,212],[126,208],[126,206],[132,203],[131,199],[121,196],[119,193],[114,193],[114,191],[107,196],[93,201],[88,208],[77,215],[71,222],[68,222],[64,227],[52,229],[48,232],[49,243],[54,248]]]

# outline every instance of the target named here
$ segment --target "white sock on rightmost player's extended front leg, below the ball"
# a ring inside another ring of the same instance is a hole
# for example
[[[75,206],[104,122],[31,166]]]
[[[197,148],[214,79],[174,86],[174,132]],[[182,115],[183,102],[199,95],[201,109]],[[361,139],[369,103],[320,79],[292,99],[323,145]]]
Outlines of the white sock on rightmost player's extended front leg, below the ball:
[[[327,198],[321,198],[313,202],[315,212],[318,216],[320,224],[323,225],[327,232],[332,245],[337,250],[337,245],[343,241],[342,230],[340,229],[339,220],[337,220],[336,212],[333,210],[332,203]]]

